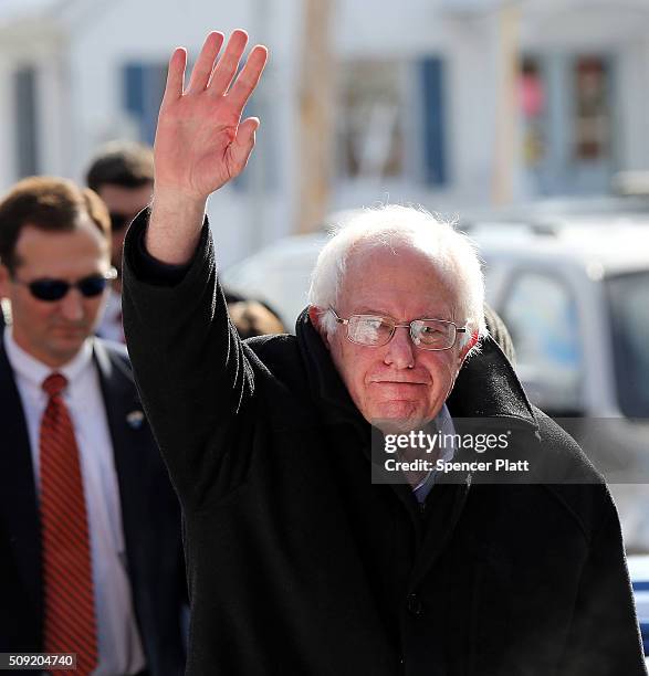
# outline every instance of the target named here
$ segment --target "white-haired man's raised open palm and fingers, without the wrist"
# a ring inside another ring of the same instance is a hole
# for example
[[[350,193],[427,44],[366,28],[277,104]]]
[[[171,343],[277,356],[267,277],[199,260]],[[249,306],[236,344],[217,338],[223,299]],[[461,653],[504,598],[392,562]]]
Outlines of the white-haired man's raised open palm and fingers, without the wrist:
[[[205,202],[245,167],[259,119],[241,122],[241,113],[268,59],[268,50],[257,45],[237,75],[247,43],[247,33],[234,31],[217,60],[223,35],[210,33],[187,89],[187,52],[178,47],[171,55],[155,141],[157,196]]]

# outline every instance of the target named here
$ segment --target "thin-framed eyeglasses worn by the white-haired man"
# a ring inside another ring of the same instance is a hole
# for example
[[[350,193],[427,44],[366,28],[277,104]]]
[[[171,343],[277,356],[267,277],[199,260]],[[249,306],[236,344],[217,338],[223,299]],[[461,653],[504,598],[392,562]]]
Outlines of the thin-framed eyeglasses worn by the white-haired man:
[[[347,328],[347,339],[356,345],[381,347],[387,345],[398,328],[409,328],[410,338],[422,350],[449,350],[456,345],[458,334],[465,334],[467,327],[459,328],[446,319],[412,319],[408,324],[397,324],[389,317],[377,315],[352,315],[348,319],[338,317],[329,307],[336,321]]]

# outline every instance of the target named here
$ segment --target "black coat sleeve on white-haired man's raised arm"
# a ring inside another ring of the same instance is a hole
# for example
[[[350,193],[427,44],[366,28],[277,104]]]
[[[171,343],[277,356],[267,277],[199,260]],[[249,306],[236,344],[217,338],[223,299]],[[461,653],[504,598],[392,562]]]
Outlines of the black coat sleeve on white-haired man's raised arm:
[[[125,241],[124,329],[143,405],[189,509],[244,479],[248,458],[239,450],[247,446],[233,430],[252,406],[254,356],[229,321],[207,219],[182,274],[160,263],[151,272],[147,225],[143,212]]]

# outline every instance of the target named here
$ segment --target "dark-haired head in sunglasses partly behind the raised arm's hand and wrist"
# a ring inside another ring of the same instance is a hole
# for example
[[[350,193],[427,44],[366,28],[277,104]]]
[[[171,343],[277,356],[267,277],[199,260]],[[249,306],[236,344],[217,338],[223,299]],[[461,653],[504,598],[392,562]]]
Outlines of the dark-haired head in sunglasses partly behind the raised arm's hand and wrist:
[[[112,262],[121,272],[126,229],[151,199],[153,149],[135,141],[111,141],[102,146],[87,169],[86,183],[108,208],[113,232]],[[118,291],[121,275],[115,285]]]

